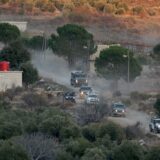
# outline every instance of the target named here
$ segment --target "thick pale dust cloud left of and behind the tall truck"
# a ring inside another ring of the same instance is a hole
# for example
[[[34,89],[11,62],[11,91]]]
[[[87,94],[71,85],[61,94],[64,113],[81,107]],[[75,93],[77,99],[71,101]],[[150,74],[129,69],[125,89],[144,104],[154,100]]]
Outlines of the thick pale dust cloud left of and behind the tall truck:
[[[53,54],[51,50],[32,51],[32,63],[40,76],[51,78],[62,85],[70,86],[70,70],[67,61]]]

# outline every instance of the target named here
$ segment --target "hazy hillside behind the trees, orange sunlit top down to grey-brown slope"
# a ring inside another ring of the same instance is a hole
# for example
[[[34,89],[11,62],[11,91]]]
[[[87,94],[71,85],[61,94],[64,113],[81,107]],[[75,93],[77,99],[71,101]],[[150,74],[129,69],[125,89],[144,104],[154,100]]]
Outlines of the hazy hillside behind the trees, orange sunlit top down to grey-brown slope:
[[[29,21],[29,32],[48,35],[58,26],[78,23],[97,42],[147,51],[160,41],[159,0],[3,0],[0,20]]]

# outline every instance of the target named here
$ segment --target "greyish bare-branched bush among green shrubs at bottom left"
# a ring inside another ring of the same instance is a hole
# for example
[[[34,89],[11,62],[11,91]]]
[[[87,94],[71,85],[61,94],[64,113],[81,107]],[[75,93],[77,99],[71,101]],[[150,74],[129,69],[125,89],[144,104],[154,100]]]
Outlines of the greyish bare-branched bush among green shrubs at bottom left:
[[[57,144],[52,137],[36,133],[18,137],[15,142],[26,150],[31,160],[54,159],[54,150]]]

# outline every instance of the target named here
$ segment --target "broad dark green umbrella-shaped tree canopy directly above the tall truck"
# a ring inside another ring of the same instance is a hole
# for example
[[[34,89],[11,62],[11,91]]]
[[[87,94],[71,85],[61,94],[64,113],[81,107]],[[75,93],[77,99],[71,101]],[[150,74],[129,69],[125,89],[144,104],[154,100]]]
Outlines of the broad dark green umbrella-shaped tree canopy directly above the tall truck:
[[[49,45],[55,54],[68,58],[69,63],[74,57],[87,59],[96,51],[93,35],[82,26],[66,24],[58,27],[57,33],[51,35]]]

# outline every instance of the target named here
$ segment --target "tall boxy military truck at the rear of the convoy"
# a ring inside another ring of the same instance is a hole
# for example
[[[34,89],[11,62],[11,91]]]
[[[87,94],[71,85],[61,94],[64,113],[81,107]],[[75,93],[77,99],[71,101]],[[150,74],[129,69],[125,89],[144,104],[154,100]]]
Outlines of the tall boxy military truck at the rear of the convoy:
[[[74,87],[88,85],[87,75],[83,71],[72,71],[70,83]]]

